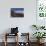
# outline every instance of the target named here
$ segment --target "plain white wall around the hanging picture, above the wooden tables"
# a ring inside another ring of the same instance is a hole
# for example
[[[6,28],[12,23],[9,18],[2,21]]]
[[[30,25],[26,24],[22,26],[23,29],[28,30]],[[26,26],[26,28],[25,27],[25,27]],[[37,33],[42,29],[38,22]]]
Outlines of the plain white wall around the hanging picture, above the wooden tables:
[[[10,8],[24,8],[24,18],[11,18]],[[30,32],[31,25],[36,24],[36,0],[1,0],[0,34],[10,32],[9,28],[19,27],[19,32]]]

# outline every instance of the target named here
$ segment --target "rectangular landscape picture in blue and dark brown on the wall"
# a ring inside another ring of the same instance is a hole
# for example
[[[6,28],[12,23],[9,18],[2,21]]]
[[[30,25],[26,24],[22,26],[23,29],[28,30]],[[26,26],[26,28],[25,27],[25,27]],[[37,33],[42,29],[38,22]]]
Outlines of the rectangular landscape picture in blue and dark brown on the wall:
[[[24,17],[24,8],[11,8],[11,17]]]

